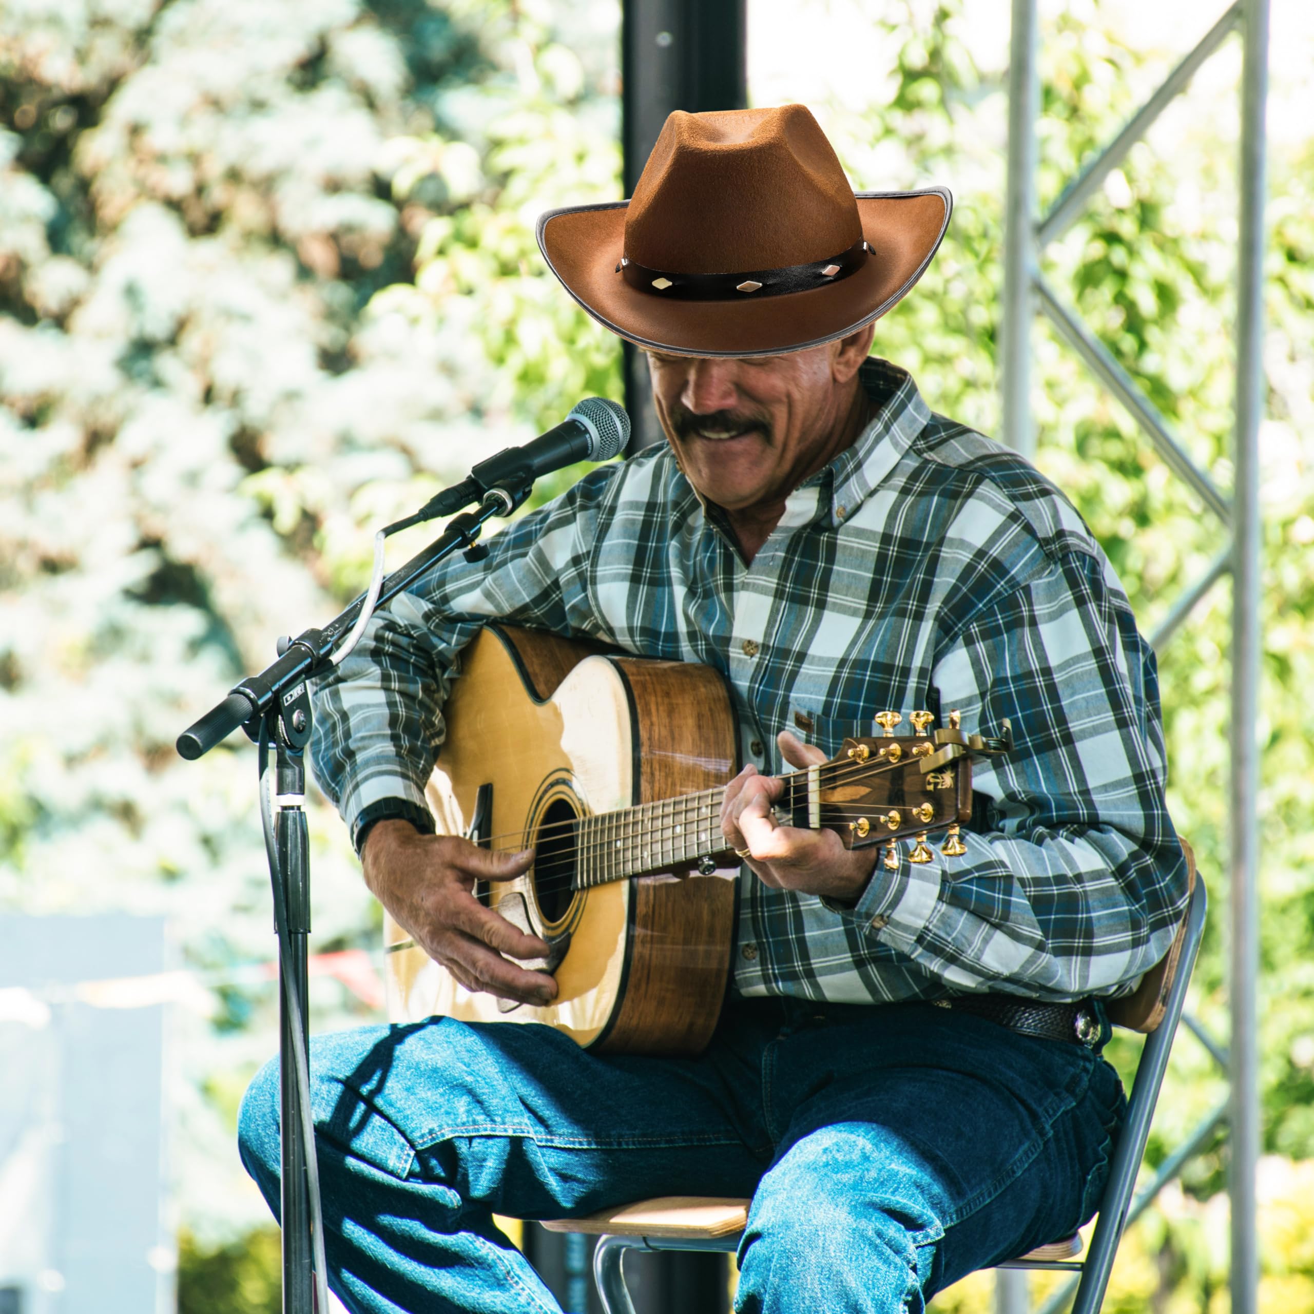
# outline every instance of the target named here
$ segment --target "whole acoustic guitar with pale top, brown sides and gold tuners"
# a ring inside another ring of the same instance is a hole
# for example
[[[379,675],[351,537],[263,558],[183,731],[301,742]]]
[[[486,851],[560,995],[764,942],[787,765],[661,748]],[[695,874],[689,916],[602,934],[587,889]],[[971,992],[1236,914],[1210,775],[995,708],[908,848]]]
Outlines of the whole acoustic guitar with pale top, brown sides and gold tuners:
[[[696,1054],[729,976],[740,863],[720,829],[735,775],[736,723],[708,666],[602,652],[553,635],[487,625],[463,653],[444,708],[447,738],[428,787],[440,834],[535,849],[516,880],[480,883],[481,901],[540,936],[556,999],[544,1007],[472,993],[384,918],[389,1016],[547,1022],[607,1053]],[[882,845],[882,862],[964,851],[974,757],[1007,752],[966,735],[957,714],[882,712],[882,735],[845,740],[823,766],[784,777],[790,825]],[[903,841],[911,840],[911,848]]]

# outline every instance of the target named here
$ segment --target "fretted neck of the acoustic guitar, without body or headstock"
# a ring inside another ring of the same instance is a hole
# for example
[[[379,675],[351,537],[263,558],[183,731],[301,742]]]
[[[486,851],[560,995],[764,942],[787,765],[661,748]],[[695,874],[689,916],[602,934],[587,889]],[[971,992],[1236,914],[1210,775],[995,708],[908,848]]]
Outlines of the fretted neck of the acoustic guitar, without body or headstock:
[[[819,825],[815,775],[815,771],[799,771],[784,777],[784,795],[777,804],[777,811],[790,813],[792,825]],[[733,853],[721,834],[724,794],[724,790],[703,790],[699,794],[622,808],[619,812],[581,817],[576,887],[589,890],[612,880],[689,867],[700,858],[715,859]],[[813,804],[811,808],[809,800]]]

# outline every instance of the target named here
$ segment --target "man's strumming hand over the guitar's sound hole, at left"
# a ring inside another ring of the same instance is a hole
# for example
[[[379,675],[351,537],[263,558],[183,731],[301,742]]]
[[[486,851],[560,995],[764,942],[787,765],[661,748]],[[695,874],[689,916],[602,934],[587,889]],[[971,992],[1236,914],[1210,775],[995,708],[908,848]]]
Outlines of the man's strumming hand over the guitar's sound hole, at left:
[[[532,849],[494,853],[469,840],[420,834],[398,819],[374,823],[361,853],[374,897],[466,989],[541,1005],[557,983],[503,955],[545,958],[548,946],[474,897],[476,880],[511,880],[532,862]]]

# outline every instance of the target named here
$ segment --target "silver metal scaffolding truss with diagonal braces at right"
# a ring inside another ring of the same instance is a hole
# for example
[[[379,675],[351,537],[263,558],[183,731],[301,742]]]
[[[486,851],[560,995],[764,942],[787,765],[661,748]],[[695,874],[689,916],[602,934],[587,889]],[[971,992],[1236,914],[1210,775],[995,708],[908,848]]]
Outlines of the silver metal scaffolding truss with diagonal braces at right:
[[[1013,0],[1009,60],[1008,197],[1005,213],[1004,322],[1001,335],[1003,434],[1017,451],[1034,456],[1030,411],[1030,336],[1037,311],[1087,364],[1100,384],[1137,420],[1168,468],[1222,526],[1227,543],[1204,574],[1168,610],[1151,636],[1162,650],[1196,604],[1227,572],[1233,577],[1231,778],[1230,778],[1230,962],[1231,1045],[1219,1049],[1193,1018],[1184,1025],[1227,1071],[1230,1095],[1160,1166],[1138,1194],[1129,1223],[1171,1181],[1187,1160],[1226,1123],[1231,1139],[1231,1310],[1255,1314],[1259,1250],[1255,1171],[1259,1159],[1259,975],[1257,748],[1260,679],[1260,515],[1259,419],[1264,397],[1260,361],[1264,254],[1265,135],[1268,95],[1268,0],[1236,0],[1173,68],[1158,91],[1104,150],[1087,163],[1043,217],[1037,213],[1037,135],[1039,116],[1037,0]],[[1235,478],[1229,495],[1190,459],[1172,424],[1131,374],[1083,323],[1041,273],[1045,248],[1080,217],[1085,204],[1127,151],[1148,131],[1196,70],[1236,29],[1243,45],[1240,87],[1240,225],[1238,242]],[[1025,1310],[1025,1286],[1010,1275],[999,1292],[1000,1314]],[[1074,1284],[1075,1285],[1075,1284]],[[1042,1314],[1056,1314],[1071,1289],[1055,1292]]]

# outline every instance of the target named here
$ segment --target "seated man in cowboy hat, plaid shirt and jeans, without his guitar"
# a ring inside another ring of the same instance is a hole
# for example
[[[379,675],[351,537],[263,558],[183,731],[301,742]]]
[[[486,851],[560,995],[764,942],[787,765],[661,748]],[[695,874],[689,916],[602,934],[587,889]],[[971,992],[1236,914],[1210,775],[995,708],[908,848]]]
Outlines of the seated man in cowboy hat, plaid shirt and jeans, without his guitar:
[[[526,964],[549,946],[476,896],[533,854],[435,834],[424,802],[461,650],[503,620],[714,668],[746,763],[720,813],[742,858],[731,988],[683,1058],[451,1017],[317,1038],[348,1309],[557,1309],[494,1214],[752,1196],[737,1309],[895,1314],[1093,1213],[1123,1112],[1101,1000],[1167,950],[1187,871],[1154,656],[1099,545],[869,355],[949,210],[942,189],[855,196],[788,105],[673,114],[628,205],[540,221],[566,290],[648,352],[669,445],[381,608],[315,690],[317,773],[430,958],[547,1004]],[[786,766],[880,707],[1012,723],[953,865],[887,865],[774,807]],[[273,1066],[240,1142],[277,1208]]]

